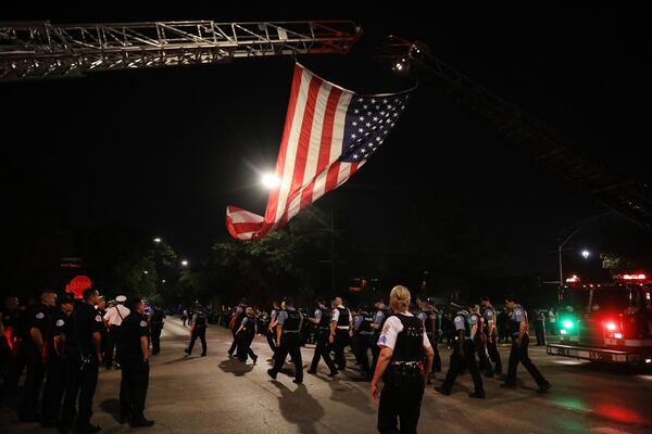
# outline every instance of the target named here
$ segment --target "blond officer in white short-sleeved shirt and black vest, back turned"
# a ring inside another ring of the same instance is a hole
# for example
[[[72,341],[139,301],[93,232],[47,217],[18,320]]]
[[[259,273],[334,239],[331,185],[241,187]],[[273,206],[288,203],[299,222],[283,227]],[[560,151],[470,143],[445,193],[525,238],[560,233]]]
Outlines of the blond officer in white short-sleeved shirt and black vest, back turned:
[[[398,433],[400,422],[401,433],[416,433],[434,352],[423,322],[408,311],[410,291],[394,286],[389,299],[394,315],[387,319],[378,339],[381,349],[371,384],[372,399],[377,403],[383,378],[377,427],[381,433]]]

